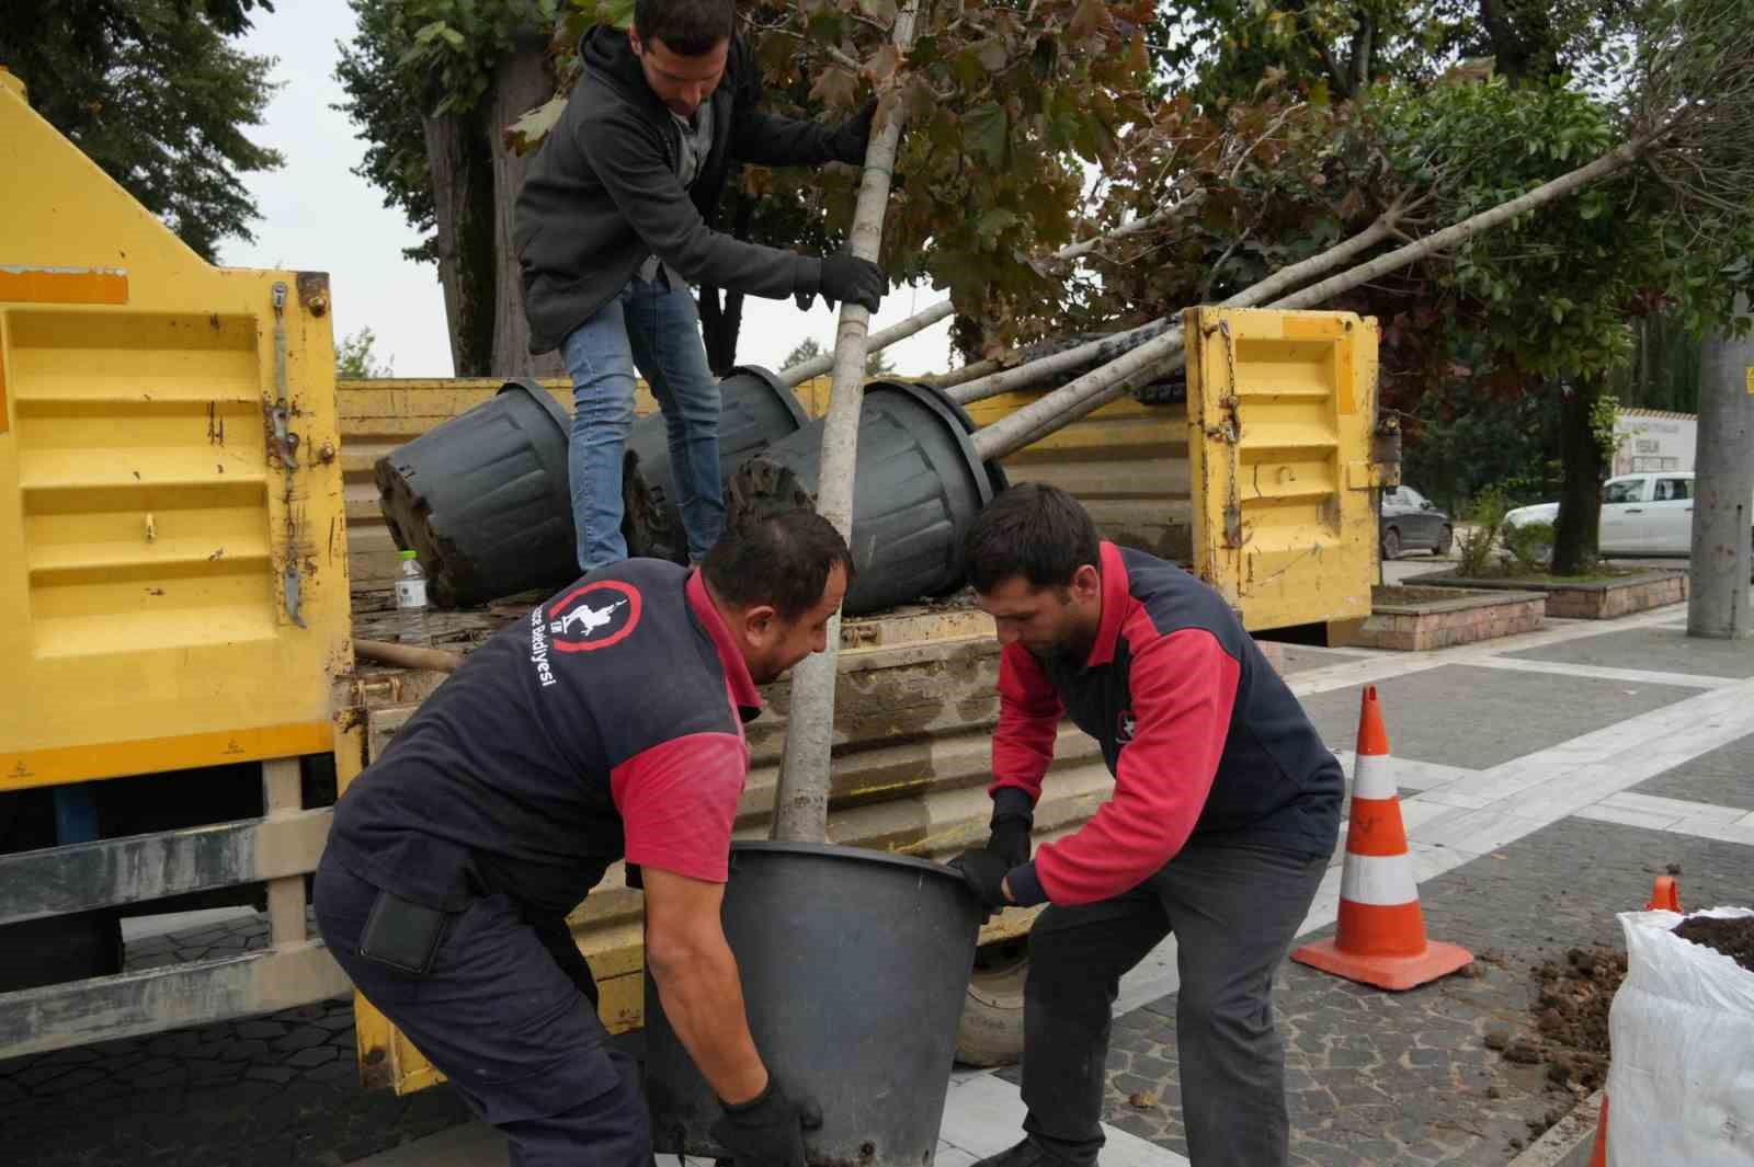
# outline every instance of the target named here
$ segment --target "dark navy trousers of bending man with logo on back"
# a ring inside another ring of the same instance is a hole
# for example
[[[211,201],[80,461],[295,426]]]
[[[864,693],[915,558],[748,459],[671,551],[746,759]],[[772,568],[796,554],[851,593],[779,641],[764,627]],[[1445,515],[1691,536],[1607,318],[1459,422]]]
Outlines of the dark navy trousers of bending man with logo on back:
[[[638,1064],[609,1044],[596,983],[563,918],[505,895],[447,916],[423,974],[360,955],[377,888],[328,857],[317,929],[335,960],[463,1100],[510,1142],[512,1167],[651,1167]]]

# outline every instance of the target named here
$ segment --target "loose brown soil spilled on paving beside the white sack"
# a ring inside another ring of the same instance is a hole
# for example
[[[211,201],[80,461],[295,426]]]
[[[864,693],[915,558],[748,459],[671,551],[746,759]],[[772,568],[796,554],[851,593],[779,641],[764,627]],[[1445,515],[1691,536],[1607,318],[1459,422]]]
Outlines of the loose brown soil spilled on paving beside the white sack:
[[[1612,948],[1573,948],[1565,960],[1547,960],[1529,969],[1537,994],[1529,1013],[1533,1034],[1494,1030],[1487,1048],[1507,1062],[1547,1065],[1554,1090],[1586,1095],[1608,1076],[1608,1006],[1626,980],[1626,957]]]

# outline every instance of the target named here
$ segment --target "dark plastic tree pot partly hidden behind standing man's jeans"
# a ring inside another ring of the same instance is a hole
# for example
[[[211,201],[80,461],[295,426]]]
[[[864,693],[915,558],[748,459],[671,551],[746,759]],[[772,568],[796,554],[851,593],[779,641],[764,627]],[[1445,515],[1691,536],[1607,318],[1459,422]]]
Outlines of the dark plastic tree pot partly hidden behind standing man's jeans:
[[[796,433],[810,421],[779,377],[754,364],[733,368],[719,382],[719,478],[728,482],[752,454]],[[679,496],[670,478],[670,431],[663,414],[647,414],[628,435],[623,464],[621,534],[630,555],[688,562]]]

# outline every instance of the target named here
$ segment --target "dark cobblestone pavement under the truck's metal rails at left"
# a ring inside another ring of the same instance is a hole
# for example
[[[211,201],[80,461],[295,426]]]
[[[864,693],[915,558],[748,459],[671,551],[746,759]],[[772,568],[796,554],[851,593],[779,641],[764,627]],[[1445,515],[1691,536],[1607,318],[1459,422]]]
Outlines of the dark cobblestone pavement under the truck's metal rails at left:
[[[261,918],[154,936],[128,967],[265,946]],[[0,1062],[0,1162],[25,1167],[347,1163],[470,1118],[449,1086],[358,1085],[353,999]]]

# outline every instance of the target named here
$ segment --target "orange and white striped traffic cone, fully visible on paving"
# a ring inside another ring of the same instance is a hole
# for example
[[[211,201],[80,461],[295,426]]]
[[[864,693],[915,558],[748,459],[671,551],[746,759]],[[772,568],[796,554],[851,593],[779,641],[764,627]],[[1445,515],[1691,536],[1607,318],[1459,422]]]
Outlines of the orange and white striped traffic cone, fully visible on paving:
[[[1394,789],[1377,687],[1365,685],[1352,769],[1352,825],[1340,871],[1340,929],[1291,953],[1298,964],[1379,988],[1412,988],[1473,960],[1456,944],[1428,943],[1407,827]]]

